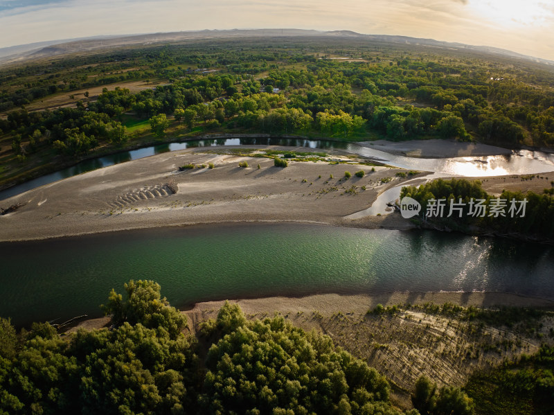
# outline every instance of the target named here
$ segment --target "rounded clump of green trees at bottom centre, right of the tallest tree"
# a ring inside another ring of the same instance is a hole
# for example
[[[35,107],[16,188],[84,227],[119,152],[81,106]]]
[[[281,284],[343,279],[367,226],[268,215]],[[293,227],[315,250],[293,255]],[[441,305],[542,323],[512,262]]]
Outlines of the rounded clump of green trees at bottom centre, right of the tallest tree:
[[[210,327],[220,339],[206,357],[202,413],[399,415],[384,376],[326,335],[283,317],[248,321],[230,303]]]

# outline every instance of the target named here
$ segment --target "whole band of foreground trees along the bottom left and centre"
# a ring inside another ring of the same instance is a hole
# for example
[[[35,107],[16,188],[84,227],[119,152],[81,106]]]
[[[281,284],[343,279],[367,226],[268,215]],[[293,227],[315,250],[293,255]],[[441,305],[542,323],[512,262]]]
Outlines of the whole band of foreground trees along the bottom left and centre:
[[[109,329],[18,335],[0,319],[0,414],[401,413],[384,376],[326,335],[226,303],[194,337],[158,284],[125,291],[103,306]]]

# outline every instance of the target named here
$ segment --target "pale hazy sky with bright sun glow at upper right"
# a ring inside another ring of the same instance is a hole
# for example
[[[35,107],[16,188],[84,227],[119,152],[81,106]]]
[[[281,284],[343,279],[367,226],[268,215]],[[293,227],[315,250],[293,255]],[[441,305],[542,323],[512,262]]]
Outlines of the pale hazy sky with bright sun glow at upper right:
[[[554,60],[554,0],[0,0],[0,47],[232,28],[430,37]]]

